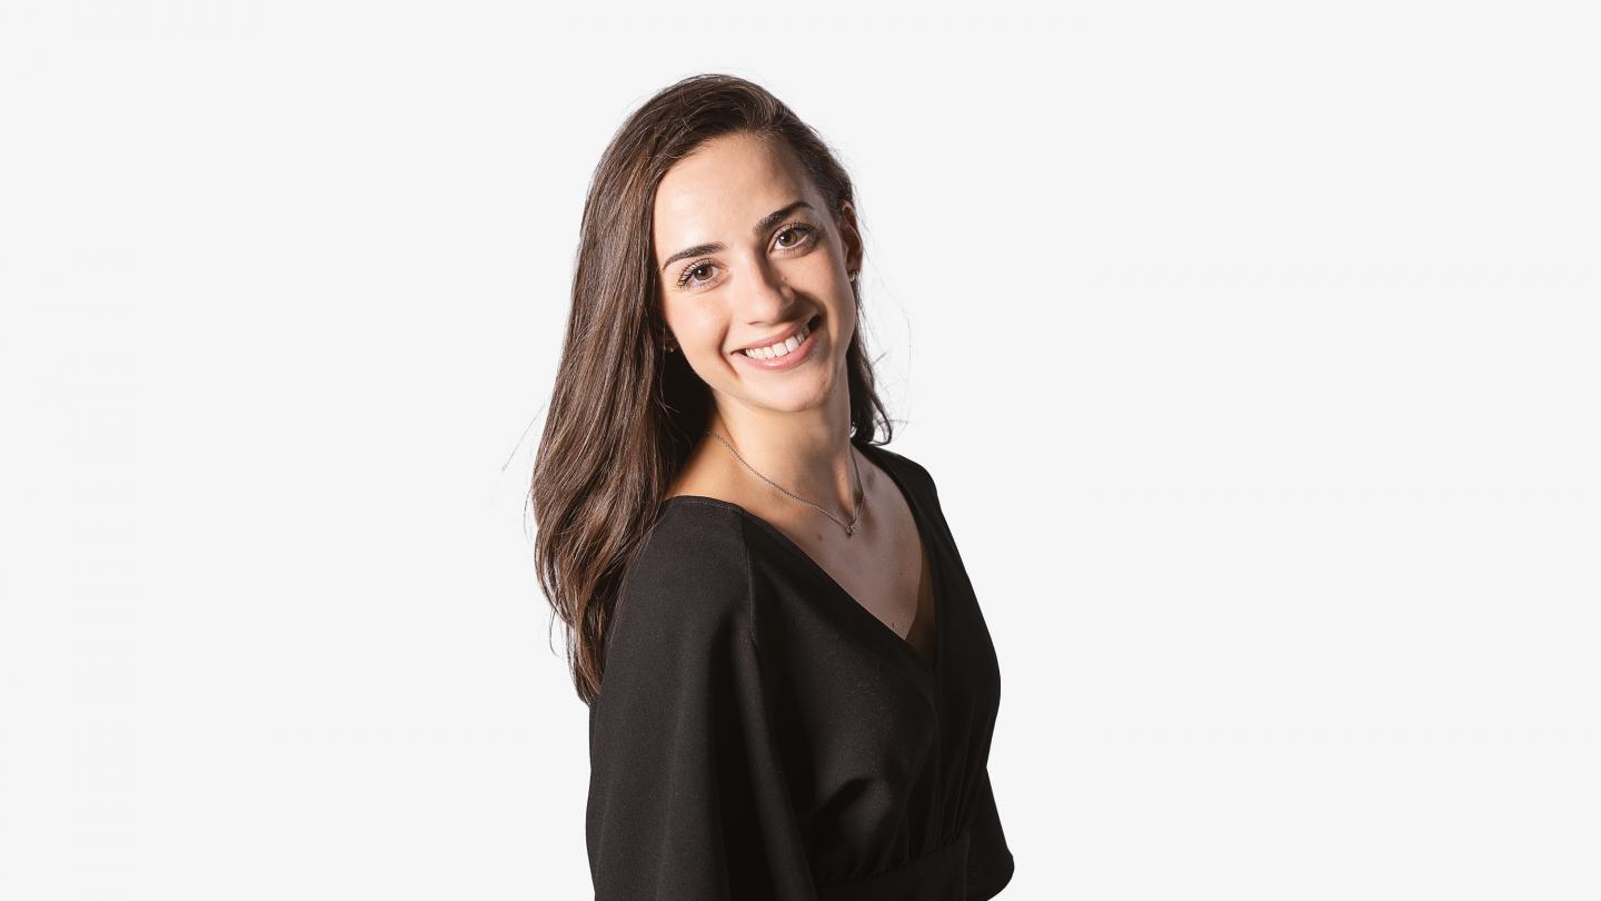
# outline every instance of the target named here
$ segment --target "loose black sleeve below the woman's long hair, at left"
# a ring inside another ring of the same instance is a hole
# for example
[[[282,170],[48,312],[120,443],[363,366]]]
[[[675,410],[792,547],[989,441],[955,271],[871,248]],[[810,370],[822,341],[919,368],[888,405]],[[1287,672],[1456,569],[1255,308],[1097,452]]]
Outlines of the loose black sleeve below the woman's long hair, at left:
[[[682,508],[682,505],[680,505]],[[663,524],[624,579],[589,710],[597,901],[813,901],[738,519]]]

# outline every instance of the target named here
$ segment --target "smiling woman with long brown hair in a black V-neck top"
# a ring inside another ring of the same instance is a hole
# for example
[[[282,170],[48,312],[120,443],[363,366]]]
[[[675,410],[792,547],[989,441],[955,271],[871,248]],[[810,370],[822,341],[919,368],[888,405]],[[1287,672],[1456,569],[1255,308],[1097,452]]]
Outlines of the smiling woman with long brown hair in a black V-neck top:
[[[663,90],[594,175],[532,495],[600,901],[1012,877],[994,648],[933,479],[874,442],[861,257],[850,178],[741,79]]]

